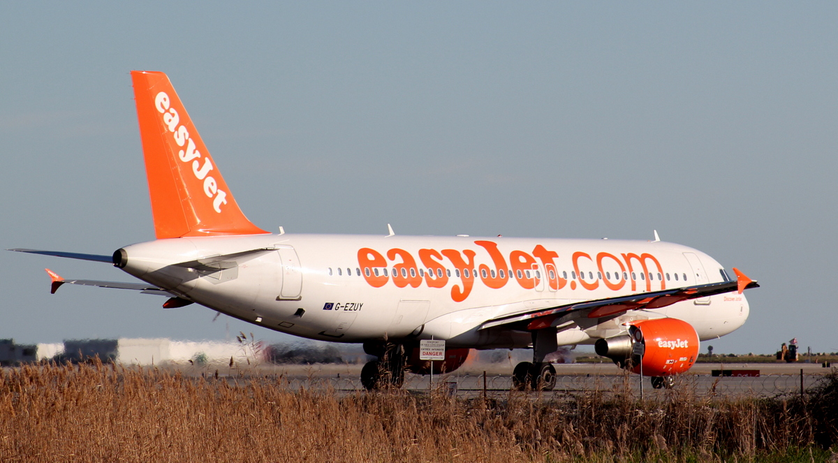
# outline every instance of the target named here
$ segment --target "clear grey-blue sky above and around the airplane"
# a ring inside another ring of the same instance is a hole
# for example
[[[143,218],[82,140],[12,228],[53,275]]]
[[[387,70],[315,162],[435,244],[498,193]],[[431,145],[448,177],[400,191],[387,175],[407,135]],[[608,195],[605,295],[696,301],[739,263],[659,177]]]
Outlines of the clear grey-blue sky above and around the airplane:
[[[0,3],[0,245],[153,239],[130,70],[289,232],[665,241],[763,284],[711,341],[838,351],[836,3]],[[0,253],[0,337],[282,335]],[[706,346],[706,344],[705,344]],[[702,350],[704,347],[702,347]]]

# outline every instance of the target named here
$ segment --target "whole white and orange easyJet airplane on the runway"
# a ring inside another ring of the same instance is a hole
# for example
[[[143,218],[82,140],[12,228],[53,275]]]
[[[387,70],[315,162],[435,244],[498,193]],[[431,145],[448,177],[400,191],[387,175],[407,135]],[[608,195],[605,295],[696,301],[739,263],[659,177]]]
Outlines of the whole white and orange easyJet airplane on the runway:
[[[168,296],[271,330],[363,343],[379,357],[366,388],[401,386],[404,371],[452,372],[470,349],[532,348],[518,387],[551,389],[545,358],[595,344],[655,388],[696,361],[699,341],[747,320],[758,284],[691,247],[661,242],[510,237],[272,234],[248,221],[168,77],[132,71],[157,239],[112,256],[34,252],[113,263],[145,283],[62,284]],[[420,340],[447,341],[444,362],[419,360]]]

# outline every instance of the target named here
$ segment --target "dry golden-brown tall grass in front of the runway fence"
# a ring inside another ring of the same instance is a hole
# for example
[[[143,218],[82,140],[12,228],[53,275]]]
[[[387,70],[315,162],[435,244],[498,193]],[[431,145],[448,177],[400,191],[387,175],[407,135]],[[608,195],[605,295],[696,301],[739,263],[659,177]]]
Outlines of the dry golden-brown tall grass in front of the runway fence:
[[[0,461],[821,461],[838,377],[805,400],[292,390],[99,362],[0,375]]]

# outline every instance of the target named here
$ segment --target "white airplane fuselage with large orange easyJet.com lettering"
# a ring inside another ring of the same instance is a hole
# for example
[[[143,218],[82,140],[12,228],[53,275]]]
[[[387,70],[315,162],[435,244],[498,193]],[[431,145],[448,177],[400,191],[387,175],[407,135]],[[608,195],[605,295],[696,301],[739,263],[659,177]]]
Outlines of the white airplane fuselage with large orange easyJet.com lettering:
[[[727,280],[705,253],[670,242],[511,237],[263,234],[127,246],[123,270],[241,320],[310,339],[448,340],[525,347],[530,334],[485,320],[577,301]],[[261,250],[206,268],[173,265]],[[608,318],[556,320],[559,345],[616,336],[633,320],[673,317],[702,340],[748,315],[743,294],[716,294]]]

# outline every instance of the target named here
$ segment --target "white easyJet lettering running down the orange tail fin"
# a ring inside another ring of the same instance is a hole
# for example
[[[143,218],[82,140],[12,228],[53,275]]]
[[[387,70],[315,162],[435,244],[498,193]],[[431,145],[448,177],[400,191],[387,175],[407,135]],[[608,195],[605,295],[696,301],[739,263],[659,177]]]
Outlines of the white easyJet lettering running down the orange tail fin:
[[[189,164],[192,163],[192,174],[199,181],[204,182],[204,195],[212,199],[212,206],[215,212],[221,212],[221,205],[227,204],[227,193],[225,190],[220,190],[218,182],[215,181],[209,171],[213,169],[212,161],[209,158],[204,158],[204,163],[201,163],[201,153],[195,148],[195,142],[189,137],[189,130],[180,124],[180,115],[178,111],[171,107],[171,101],[165,91],[161,91],[154,97],[154,107],[160,114],[163,115],[163,125],[168,128],[174,138],[174,143],[178,143],[181,149],[178,152],[178,159],[181,162]]]

